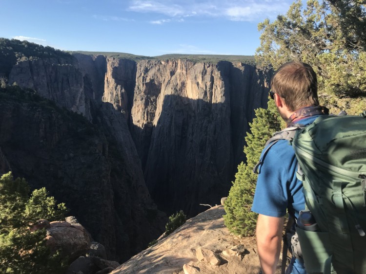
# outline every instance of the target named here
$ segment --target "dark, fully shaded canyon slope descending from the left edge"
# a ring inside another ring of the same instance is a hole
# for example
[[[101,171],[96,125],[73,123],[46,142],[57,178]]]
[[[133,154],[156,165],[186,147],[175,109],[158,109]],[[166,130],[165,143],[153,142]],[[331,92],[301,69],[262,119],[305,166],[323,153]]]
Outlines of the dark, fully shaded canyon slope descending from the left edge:
[[[45,186],[105,245],[110,258],[124,261],[160,235],[163,215],[141,169],[131,167],[138,156],[124,119],[110,104],[93,104],[91,110],[96,125],[44,101],[0,94],[0,167],[34,188]],[[117,126],[126,146],[103,133],[102,125]]]

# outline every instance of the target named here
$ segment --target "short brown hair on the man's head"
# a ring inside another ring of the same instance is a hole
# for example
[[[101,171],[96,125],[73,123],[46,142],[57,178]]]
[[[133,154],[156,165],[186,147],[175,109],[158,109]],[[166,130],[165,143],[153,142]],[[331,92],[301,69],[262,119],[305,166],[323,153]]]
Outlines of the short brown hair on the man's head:
[[[316,73],[308,64],[298,61],[283,64],[272,77],[271,89],[285,100],[290,111],[319,105]]]

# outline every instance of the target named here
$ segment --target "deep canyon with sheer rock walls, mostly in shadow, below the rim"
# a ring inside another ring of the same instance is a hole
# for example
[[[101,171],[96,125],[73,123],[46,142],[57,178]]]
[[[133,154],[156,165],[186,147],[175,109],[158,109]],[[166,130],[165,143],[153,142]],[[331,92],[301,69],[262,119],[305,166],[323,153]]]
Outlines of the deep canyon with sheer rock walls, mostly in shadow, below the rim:
[[[0,76],[51,104],[0,97],[1,171],[45,186],[120,262],[161,235],[167,215],[227,196],[267,102],[268,75],[241,62],[9,56]]]

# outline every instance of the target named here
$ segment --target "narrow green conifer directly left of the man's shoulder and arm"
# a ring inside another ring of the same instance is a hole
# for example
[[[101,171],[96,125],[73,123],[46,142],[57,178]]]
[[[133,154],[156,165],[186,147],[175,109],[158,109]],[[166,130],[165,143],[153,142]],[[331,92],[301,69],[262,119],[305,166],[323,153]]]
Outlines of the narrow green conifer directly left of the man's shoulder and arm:
[[[273,100],[268,102],[268,109],[257,109],[255,114],[256,118],[249,124],[251,132],[245,137],[246,164],[239,164],[235,182],[224,203],[226,227],[230,232],[242,236],[253,235],[257,221],[257,214],[250,210],[257,183],[257,174],[252,170],[259,161],[266,140],[281,126]]]

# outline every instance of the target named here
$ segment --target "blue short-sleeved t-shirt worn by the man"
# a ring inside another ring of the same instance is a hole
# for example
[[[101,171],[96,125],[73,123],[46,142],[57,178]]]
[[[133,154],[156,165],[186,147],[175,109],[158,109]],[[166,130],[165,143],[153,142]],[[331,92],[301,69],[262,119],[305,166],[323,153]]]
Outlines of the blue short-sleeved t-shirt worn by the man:
[[[306,117],[297,123],[306,126],[318,116]],[[258,171],[252,211],[265,216],[283,217],[288,209],[297,218],[299,211],[305,209],[305,198],[303,183],[296,178],[297,160],[289,142],[280,140],[274,144]]]

